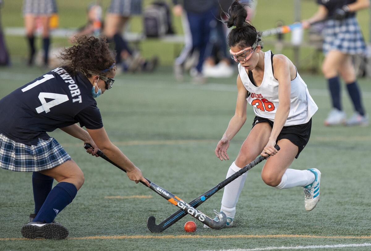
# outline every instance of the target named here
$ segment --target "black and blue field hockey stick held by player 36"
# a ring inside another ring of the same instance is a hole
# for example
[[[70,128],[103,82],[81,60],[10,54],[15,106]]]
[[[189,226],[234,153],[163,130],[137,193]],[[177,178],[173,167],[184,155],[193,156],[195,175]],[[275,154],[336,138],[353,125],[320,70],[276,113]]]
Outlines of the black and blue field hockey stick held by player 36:
[[[275,146],[277,150],[280,150],[280,147],[278,145]],[[245,165],[241,170],[238,172],[232,174],[230,177],[223,180],[221,183],[217,184],[215,187],[211,188],[209,191],[207,191],[204,194],[201,194],[198,196],[198,198],[191,201],[190,204],[191,207],[198,207],[202,203],[204,203],[208,198],[213,196],[217,191],[219,191],[221,188],[225,187],[227,184],[231,183],[233,180],[236,180],[236,178],[240,177],[243,173],[246,173],[251,168],[253,168],[255,165],[259,164],[263,160],[265,160],[267,157],[259,156],[255,160],[253,160],[250,164]],[[150,216],[147,219],[147,227],[151,232],[162,232],[171,225],[173,225],[175,222],[180,220],[186,215],[186,213],[182,210],[178,210],[174,212],[174,214],[170,215],[168,218],[163,220],[160,224],[156,225],[156,218],[154,216]]]

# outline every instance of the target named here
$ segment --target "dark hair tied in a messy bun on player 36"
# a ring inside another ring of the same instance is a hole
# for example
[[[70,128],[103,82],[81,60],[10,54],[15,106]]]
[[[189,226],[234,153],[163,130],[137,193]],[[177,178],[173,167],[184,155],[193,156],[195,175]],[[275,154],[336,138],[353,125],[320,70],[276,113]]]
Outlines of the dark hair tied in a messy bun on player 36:
[[[243,0],[235,0],[228,9],[228,13],[225,13],[227,20],[224,23],[228,28],[235,26],[227,37],[228,46],[239,46],[241,48],[253,46],[253,44],[260,44],[262,41],[262,33],[257,31],[249,20],[246,20],[247,3],[243,3]]]

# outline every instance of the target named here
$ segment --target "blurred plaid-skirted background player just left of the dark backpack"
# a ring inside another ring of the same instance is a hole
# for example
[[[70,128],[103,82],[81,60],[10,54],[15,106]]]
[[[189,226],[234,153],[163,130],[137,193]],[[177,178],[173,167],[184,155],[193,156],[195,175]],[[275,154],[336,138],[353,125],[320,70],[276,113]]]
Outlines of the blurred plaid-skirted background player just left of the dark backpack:
[[[124,71],[153,71],[158,63],[157,57],[151,60],[144,59],[138,51],[129,47],[127,40],[122,36],[130,17],[141,13],[142,0],[111,0],[106,14],[103,34],[109,42],[114,42],[116,64],[121,65],[121,70]]]

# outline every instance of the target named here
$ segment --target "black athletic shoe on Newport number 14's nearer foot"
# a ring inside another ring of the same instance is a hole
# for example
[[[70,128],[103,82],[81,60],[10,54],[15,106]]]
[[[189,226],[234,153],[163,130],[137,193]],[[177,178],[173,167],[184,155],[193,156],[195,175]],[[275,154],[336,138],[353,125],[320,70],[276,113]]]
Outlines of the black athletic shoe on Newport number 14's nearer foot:
[[[21,232],[24,238],[30,239],[43,237],[45,239],[62,240],[68,236],[67,228],[55,223],[29,222],[23,225]]]

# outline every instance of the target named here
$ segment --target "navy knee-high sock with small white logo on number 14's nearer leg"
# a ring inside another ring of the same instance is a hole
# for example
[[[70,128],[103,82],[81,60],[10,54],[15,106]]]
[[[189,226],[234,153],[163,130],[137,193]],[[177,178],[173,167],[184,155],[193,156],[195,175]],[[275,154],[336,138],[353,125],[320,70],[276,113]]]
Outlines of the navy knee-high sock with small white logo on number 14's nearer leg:
[[[68,182],[58,183],[40,208],[33,221],[51,223],[57,214],[70,204],[77,194],[75,185]]]

